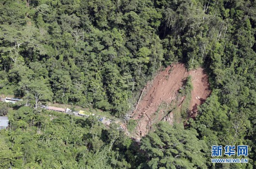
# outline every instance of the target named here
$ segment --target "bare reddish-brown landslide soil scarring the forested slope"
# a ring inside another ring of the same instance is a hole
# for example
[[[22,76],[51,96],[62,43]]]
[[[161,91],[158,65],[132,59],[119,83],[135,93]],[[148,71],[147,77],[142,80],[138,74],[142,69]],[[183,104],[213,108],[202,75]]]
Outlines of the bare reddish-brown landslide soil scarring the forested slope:
[[[189,109],[191,110],[191,116],[197,114],[197,105],[202,104],[210,95],[207,75],[202,68],[187,72],[183,64],[168,66],[146,85],[146,90],[142,95],[138,108],[132,114],[133,119],[139,120],[136,127],[138,136],[144,136],[151,129],[154,122],[162,119],[172,120],[173,116],[165,117],[165,110],[161,108],[159,110],[159,106],[162,103],[169,106],[173,102],[177,106],[182,104],[185,97],[178,99],[177,95],[188,75],[192,76],[194,88],[191,92],[192,98]],[[156,111],[158,111],[157,115]]]

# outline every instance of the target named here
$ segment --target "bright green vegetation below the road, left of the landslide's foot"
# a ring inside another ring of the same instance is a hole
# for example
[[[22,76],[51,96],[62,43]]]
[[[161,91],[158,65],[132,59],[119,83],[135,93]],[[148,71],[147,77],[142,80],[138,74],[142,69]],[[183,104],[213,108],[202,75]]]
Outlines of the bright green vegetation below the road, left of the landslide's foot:
[[[0,130],[1,168],[130,168],[131,140],[115,123],[107,130],[94,116],[71,120],[28,106],[8,115],[11,129]]]

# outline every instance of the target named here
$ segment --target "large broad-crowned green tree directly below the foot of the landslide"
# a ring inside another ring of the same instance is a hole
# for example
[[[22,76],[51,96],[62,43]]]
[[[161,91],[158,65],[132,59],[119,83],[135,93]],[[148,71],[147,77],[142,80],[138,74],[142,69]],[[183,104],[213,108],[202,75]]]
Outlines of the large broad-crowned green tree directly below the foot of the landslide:
[[[207,168],[206,144],[197,138],[195,130],[184,130],[182,124],[160,122],[141,142],[148,160],[142,168]]]

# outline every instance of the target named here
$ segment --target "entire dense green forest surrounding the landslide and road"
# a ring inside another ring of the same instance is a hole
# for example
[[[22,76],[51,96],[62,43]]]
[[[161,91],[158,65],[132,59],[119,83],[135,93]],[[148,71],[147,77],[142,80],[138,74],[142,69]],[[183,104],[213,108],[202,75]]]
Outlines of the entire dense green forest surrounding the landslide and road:
[[[254,0],[1,0],[0,94],[31,107],[0,104],[0,168],[256,168],[255,39]],[[204,67],[212,94],[185,128],[160,122],[140,143],[95,117],[32,108],[122,117],[175,62]],[[212,145],[248,145],[249,163],[213,164]]]

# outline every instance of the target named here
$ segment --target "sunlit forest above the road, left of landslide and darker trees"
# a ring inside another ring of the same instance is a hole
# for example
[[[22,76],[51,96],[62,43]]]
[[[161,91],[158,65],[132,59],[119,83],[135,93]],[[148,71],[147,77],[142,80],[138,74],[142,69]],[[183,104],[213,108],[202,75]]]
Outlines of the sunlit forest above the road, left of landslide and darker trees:
[[[162,61],[155,34],[161,13],[151,1],[146,4],[136,2],[132,11],[127,2],[111,0],[1,3],[0,91],[13,92],[27,104],[72,102],[122,116],[131,93]],[[35,79],[43,81],[41,89],[35,89]]]

